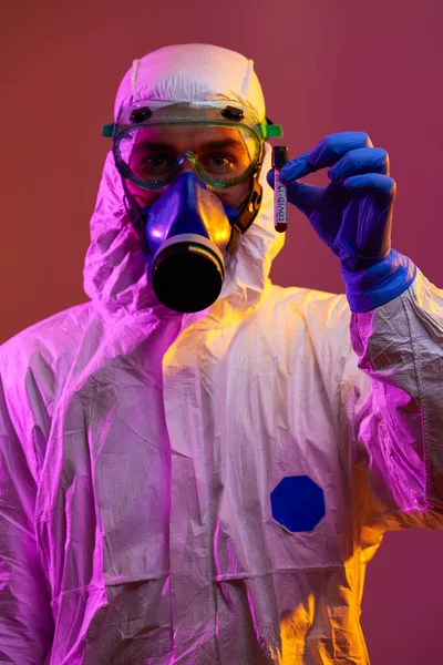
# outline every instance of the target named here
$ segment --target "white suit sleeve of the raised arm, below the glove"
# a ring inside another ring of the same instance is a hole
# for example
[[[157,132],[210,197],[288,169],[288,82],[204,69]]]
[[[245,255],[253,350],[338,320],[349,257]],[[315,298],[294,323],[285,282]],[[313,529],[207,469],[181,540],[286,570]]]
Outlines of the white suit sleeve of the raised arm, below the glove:
[[[363,523],[442,529],[443,291],[418,270],[394,300],[351,315],[351,342],[342,393]]]

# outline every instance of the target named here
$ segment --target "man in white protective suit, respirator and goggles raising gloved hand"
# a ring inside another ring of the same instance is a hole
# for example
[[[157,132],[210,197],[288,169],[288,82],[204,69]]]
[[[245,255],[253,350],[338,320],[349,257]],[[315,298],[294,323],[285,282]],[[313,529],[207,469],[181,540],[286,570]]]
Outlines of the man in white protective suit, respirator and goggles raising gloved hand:
[[[91,300],[2,348],[0,662],[368,664],[367,562],[443,522],[443,303],[391,248],[388,155],[332,134],[281,172],[334,296],[268,278],[251,61],[150,53],[109,133]]]

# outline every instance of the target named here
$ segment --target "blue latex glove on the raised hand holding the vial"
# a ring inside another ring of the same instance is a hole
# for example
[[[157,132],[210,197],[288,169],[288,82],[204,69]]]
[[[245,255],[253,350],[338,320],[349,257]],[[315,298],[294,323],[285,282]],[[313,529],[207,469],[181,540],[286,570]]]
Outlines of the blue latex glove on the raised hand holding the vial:
[[[329,166],[327,187],[298,178]],[[410,258],[391,248],[395,182],[389,176],[388,153],[373,147],[364,132],[326,136],[310,152],[280,172],[288,201],[310,221],[320,238],[340,258],[352,311],[389,303],[413,282]],[[267,181],[274,187],[274,172]]]

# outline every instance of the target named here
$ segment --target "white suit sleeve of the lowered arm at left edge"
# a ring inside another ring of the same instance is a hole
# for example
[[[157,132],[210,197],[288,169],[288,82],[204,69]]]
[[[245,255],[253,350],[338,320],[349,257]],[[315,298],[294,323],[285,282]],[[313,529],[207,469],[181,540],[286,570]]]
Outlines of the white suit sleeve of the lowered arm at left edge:
[[[38,485],[11,405],[0,382],[0,665],[43,665],[54,625],[34,528]]]

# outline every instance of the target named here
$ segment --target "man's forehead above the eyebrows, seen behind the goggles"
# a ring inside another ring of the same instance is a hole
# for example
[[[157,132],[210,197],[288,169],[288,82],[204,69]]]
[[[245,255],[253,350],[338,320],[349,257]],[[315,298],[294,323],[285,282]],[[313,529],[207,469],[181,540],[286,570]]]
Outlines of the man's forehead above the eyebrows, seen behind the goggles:
[[[226,142],[233,147],[245,150],[241,132],[234,127],[216,125],[177,125],[177,126],[143,126],[135,140],[141,143],[166,144],[176,150],[190,150],[210,143]]]

